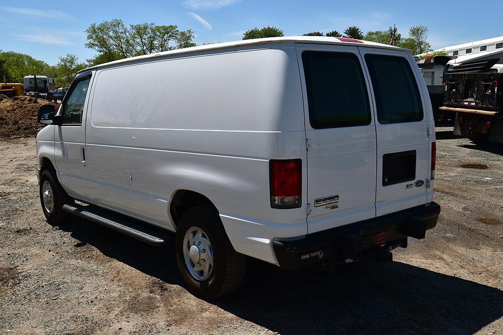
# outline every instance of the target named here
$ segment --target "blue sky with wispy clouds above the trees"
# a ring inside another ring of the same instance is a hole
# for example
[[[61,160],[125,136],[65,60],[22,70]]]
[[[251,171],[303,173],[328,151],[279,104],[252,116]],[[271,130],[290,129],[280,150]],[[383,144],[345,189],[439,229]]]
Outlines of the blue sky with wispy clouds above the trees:
[[[154,22],[192,29],[198,44],[239,40],[242,32],[274,25],[285,35],[313,30],[344,31],[359,26],[364,32],[396,24],[402,36],[411,25],[427,25],[434,48],[503,35],[503,3],[492,7],[472,2],[410,1],[66,1],[2,2],[0,49],[29,54],[55,64],[59,56],[76,54],[81,61],[96,52],[87,49],[84,31],[91,23],[122,19],[126,24]],[[420,5],[420,6],[417,6]],[[499,7],[499,8],[498,8]],[[469,9],[467,12],[467,8]]]

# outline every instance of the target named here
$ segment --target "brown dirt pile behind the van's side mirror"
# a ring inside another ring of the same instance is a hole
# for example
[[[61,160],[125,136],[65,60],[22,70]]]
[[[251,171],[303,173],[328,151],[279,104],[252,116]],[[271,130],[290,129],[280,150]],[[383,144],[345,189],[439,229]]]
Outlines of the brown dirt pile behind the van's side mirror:
[[[0,138],[35,136],[42,128],[37,122],[37,110],[42,104],[53,104],[57,110],[59,103],[31,96],[0,96]]]

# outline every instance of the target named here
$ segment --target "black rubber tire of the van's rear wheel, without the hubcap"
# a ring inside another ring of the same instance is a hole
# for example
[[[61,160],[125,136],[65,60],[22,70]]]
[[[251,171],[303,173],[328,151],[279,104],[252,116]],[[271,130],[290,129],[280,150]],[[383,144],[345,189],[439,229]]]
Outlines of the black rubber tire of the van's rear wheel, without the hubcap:
[[[205,280],[196,279],[185,263],[184,237],[191,227],[202,229],[211,243],[213,268]],[[189,291],[193,294],[214,299],[231,293],[241,284],[246,258],[232,248],[218,211],[214,207],[194,207],[182,215],[177,227],[175,248],[178,268]]]

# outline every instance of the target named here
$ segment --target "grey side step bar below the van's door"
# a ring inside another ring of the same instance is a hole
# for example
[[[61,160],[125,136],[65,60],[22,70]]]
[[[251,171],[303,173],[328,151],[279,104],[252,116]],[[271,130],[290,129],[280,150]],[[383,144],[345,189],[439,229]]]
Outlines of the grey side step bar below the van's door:
[[[161,246],[173,242],[173,235],[141,221],[115,213],[94,205],[63,205],[65,212],[80,216],[119,233],[146,242],[153,246]]]

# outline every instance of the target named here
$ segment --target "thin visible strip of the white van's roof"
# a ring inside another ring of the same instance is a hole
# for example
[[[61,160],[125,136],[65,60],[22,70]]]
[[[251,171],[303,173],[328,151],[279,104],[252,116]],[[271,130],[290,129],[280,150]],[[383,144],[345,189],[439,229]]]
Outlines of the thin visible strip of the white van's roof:
[[[136,56],[131,58],[119,59],[116,61],[95,65],[89,67],[87,69],[83,69],[78,71],[78,73],[85,72],[91,69],[96,69],[104,66],[115,65],[115,64],[123,64],[129,63],[136,60],[147,60],[153,59],[162,56],[172,56],[172,55],[181,55],[193,52],[210,52],[212,50],[218,49],[226,49],[233,47],[240,47],[246,45],[261,45],[261,44],[269,44],[269,43],[315,43],[315,44],[334,44],[334,45],[351,45],[351,46],[365,46],[371,48],[380,48],[380,49],[393,49],[393,50],[403,50],[410,51],[409,49],[398,48],[395,46],[375,43],[370,41],[363,40],[355,40],[351,38],[343,38],[343,37],[324,37],[324,36],[285,36],[285,37],[270,37],[270,38],[259,38],[259,39],[251,39],[251,40],[240,40],[233,42],[222,42],[222,43],[214,43],[214,44],[206,44],[199,45],[196,47],[183,48],[183,49],[175,49],[170,51],[158,52],[148,55]]]

